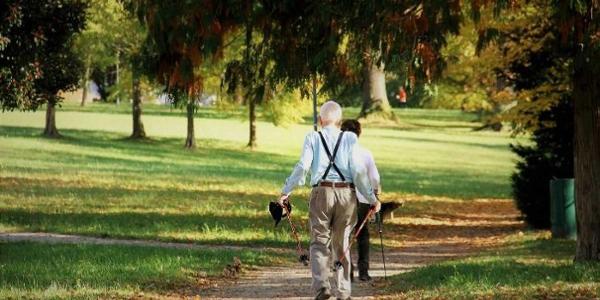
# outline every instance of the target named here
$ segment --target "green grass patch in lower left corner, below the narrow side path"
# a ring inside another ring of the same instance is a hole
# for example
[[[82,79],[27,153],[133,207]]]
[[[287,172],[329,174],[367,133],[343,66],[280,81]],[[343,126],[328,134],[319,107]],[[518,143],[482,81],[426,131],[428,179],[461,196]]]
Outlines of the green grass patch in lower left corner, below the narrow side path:
[[[238,257],[243,268],[286,263],[256,250],[0,242],[0,298],[133,298],[197,295]]]

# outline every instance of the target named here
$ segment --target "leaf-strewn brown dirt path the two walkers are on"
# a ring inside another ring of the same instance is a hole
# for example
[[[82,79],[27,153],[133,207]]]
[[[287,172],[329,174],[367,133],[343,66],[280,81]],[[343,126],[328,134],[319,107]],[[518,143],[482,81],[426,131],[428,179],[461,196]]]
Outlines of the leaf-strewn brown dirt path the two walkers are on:
[[[388,276],[436,261],[476,254],[498,246],[505,236],[523,228],[510,200],[420,199],[407,205],[412,206],[411,211],[385,224]],[[374,228],[371,230],[375,232]],[[379,248],[372,248],[370,273],[375,280],[354,283],[352,299],[383,296],[377,288],[385,284],[381,262]],[[203,299],[312,299],[310,282],[310,269],[300,264],[289,268],[260,268],[247,272],[237,281],[224,281],[204,289],[201,296]]]

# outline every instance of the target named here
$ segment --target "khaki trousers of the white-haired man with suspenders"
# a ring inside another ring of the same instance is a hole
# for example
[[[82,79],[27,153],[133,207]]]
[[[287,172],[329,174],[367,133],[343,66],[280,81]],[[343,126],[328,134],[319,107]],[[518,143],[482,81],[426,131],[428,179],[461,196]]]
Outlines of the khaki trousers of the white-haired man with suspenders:
[[[356,192],[351,188],[318,186],[312,189],[308,217],[312,288],[315,293],[326,288],[337,298],[350,297],[350,251],[342,262],[343,267],[335,271],[333,286],[329,283],[329,275],[333,263],[348,247],[350,234],[356,225],[357,202]],[[329,250],[330,243],[333,253]]]

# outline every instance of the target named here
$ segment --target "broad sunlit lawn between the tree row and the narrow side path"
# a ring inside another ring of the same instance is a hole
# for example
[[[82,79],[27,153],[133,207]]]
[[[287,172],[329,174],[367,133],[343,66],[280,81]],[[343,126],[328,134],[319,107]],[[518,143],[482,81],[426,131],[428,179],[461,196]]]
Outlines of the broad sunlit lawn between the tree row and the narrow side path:
[[[178,137],[183,117],[145,116],[152,139],[142,142],[125,139],[125,114],[57,117],[65,137],[49,140],[39,137],[43,113],[0,115],[0,230],[291,245],[285,228],[273,229],[266,204],[297,161],[310,125],[259,122],[260,146],[251,151],[244,147],[247,124],[198,119],[198,149],[189,151]],[[384,199],[509,196],[515,158],[506,133],[367,128],[361,141],[378,162]],[[307,191],[294,196],[304,222]]]

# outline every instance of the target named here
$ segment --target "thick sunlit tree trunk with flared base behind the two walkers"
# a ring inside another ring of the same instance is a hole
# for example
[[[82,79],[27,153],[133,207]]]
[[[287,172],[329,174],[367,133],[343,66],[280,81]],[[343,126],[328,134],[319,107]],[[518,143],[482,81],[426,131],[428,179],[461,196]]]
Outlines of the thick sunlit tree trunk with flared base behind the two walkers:
[[[377,60],[365,58],[363,84],[363,105],[360,111],[360,117],[378,112],[385,117],[392,116],[392,108],[387,98],[385,88],[385,66],[383,63],[378,66]]]

